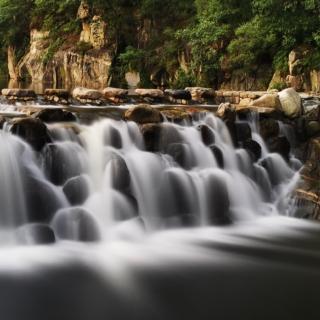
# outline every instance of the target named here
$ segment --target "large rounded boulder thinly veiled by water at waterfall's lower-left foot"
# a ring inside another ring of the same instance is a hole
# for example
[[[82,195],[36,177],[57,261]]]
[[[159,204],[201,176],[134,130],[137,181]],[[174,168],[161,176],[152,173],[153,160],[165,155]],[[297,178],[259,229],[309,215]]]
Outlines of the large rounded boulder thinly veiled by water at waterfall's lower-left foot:
[[[61,240],[95,242],[100,231],[93,216],[82,208],[68,208],[57,212],[52,221],[56,236]]]

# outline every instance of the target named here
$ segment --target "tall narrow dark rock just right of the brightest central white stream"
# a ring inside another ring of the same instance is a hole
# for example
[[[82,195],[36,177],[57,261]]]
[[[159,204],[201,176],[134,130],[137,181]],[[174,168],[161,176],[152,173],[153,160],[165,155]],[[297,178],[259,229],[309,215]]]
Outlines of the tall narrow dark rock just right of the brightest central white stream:
[[[112,187],[122,192],[130,189],[131,176],[125,160],[119,156],[114,156],[108,165],[110,165]]]

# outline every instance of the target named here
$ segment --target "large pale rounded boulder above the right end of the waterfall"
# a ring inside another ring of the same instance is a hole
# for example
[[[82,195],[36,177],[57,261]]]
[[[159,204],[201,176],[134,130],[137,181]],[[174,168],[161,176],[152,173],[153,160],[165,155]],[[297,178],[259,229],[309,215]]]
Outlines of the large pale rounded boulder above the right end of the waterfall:
[[[297,118],[302,112],[300,95],[292,88],[279,92],[281,109],[289,118]]]

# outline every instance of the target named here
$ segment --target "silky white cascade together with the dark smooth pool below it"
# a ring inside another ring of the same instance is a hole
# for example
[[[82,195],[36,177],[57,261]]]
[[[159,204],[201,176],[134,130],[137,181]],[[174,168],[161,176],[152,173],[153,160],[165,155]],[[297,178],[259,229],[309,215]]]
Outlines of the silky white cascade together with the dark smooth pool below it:
[[[5,126],[0,319],[319,319],[320,227],[294,218],[297,162],[249,123],[257,162],[210,114],[164,123],[156,153],[135,123],[48,125],[40,154]]]

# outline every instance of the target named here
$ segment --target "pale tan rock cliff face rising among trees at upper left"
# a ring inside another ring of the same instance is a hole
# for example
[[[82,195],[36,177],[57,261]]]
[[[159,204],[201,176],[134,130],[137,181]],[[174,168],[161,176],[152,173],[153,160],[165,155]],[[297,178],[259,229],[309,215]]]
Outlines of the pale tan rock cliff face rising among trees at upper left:
[[[79,8],[78,18],[82,21],[79,41],[58,50],[50,61],[45,59],[49,32],[31,31],[30,49],[19,62],[19,73],[30,77],[34,87],[48,83],[53,87],[101,89],[108,85],[112,58],[105,49],[106,24],[100,16],[90,17],[85,3]]]

